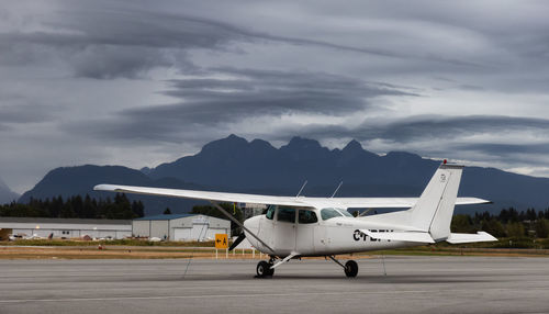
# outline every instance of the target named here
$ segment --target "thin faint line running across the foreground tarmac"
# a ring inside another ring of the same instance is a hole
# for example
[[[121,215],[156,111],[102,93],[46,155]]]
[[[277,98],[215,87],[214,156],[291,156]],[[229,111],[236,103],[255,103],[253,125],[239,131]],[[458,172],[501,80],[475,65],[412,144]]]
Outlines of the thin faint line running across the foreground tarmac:
[[[395,291],[397,293],[426,293],[428,291],[411,290]],[[70,299],[21,299],[21,300],[0,300],[0,304],[25,303],[25,302],[89,302],[89,301],[125,301],[125,300],[177,300],[177,299],[212,299],[212,298],[264,298],[264,296],[317,296],[317,295],[365,295],[376,292],[305,292],[305,293],[256,293],[256,294],[216,294],[216,295],[158,295],[158,296],[117,296],[117,298],[70,298]],[[379,292],[379,293],[386,293]]]

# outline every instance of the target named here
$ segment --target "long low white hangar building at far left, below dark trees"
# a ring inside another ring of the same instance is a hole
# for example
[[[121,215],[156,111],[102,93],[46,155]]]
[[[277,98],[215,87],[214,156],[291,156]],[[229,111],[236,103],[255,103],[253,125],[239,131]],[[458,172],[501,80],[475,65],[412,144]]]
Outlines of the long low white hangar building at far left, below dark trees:
[[[132,236],[132,221],[40,217],[0,217],[0,237],[10,234],[48,237],[124,238]]]

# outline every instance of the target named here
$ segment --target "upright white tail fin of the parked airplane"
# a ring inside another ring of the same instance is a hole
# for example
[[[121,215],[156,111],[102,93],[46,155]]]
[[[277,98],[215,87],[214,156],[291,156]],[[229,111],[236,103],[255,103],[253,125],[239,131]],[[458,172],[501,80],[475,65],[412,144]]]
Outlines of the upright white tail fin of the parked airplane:
[[[463,166],[442,164],[410,210],[410,223],[436,240],[450,236],[450,223]]]

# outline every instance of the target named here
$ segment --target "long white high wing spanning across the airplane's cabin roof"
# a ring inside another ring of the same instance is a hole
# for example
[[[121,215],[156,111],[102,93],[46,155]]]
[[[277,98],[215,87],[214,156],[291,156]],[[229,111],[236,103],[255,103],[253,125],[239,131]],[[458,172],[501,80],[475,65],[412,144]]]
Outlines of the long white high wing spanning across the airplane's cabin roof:
[[[305,197],[273,197],[243,193],[225,193],[195,190],[163,189],[147,187],[131,187],[116,184],[99,184],[93,188],[96,191],[110,191],[120,193],[135,193],[145,195],[172,197],[183,199],[195,199],[216,202],[236,202],[254,204],[271,204],[285,206],[324,206],[324,208],[412,208],[417,198],[305,198]],[[477,198],[458,198],[456,205],[485,204],[490,201]]]

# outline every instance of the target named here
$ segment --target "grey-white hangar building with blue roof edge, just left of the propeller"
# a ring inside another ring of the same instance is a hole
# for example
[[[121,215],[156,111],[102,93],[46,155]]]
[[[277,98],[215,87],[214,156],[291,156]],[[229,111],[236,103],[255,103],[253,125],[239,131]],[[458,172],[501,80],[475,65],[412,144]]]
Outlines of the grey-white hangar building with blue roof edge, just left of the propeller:
[[[199,214],[170,214],[136,218],[132,234],[170,240],[209,240],[215,234],[231,236],[231,221]]]

